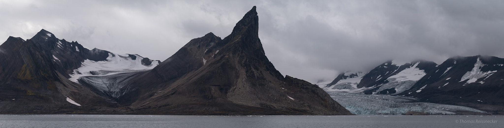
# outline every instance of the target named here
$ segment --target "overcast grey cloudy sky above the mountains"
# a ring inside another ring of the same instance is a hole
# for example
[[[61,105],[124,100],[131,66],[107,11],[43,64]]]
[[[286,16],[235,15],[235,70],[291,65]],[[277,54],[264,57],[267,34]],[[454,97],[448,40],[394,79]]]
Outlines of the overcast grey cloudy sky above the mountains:
[[[0,40],[45,29],[164,60],[209,32],[226,37],[253,6],[273,65],[311,83],[388,59],[504,57],[504,1],[0,1]]]

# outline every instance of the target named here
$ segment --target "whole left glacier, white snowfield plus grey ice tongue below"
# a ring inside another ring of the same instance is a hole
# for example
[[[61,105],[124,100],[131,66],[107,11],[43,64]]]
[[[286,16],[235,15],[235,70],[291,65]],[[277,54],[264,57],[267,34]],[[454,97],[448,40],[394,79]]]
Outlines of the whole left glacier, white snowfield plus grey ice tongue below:
[[[145,66],[142,63],[144,57],[135,56],[136,59],[133,59],[129,54],[109,53],[104,61],[86,59],[81,67],[70,74],[69,80],[92,85],[105,94],[119,97],[125,82],[159,65],[158,61],[152,61],[151,65]]]

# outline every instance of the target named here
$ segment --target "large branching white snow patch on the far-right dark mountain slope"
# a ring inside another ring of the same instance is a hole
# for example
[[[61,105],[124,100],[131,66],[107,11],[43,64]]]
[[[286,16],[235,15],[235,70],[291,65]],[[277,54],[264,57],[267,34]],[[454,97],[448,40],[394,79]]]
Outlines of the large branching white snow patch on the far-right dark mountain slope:
[[[478,57],[478,59],[476,60],[476,63],[474,63],[474,68],[471,71],[464,74],[464,76],[462,76],[462,79],[460,79],[459,82],[462,82],[462,81],[469,79],[466,83],[474,83],[480,78],[489,77],[490,75],[492,75],[492,73],[497,72],[497,71],[481,72],[481,68],[483,66],[486,66],[486,65],[483,64],[483,62],[481,62],[481,60],[479,60],[479,57]]]

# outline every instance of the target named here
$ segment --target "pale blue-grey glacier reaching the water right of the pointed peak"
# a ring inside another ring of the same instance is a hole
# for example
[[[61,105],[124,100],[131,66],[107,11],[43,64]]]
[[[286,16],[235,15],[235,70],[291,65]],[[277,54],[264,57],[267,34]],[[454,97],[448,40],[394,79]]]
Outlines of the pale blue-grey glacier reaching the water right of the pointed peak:
[[[366,95],[345,91],[326,92],[353,114],[405,114],[408,111],[445,115],[456,114],[455,111],[488,113],[464,106],[416,102],[418,99],[406,96]]]

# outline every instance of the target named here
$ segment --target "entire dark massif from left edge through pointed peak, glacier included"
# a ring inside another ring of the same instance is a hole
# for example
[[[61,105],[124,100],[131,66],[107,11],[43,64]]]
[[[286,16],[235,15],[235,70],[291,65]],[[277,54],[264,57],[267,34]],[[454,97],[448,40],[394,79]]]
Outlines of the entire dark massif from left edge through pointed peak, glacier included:
[[[258,36],[256,7],[224,39],[208,33],[164,61],[41,30],[0,45],[0,113],[349,115],[317,85],[282,76]]]

